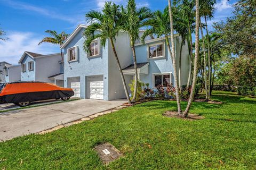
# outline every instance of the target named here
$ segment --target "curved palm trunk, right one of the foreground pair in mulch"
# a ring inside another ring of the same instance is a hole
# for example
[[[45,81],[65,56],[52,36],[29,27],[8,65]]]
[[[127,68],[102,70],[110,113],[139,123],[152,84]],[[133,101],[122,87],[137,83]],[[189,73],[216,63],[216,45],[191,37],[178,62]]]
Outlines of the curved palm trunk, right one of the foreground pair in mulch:
[[[195,64],[194,64],[194,75],[193,82],[191,87],[190,96],[188,99],[188,105],[183,113],[182,117],[187,117],[189,113],[189,109],[191,107],[192,101],[194,99],[194,91],[196,87],[196,78],[197,78],[197,60],[198,60],[198,52],[199,52],[199,0],[196,0],[196,43],[195,43]]]

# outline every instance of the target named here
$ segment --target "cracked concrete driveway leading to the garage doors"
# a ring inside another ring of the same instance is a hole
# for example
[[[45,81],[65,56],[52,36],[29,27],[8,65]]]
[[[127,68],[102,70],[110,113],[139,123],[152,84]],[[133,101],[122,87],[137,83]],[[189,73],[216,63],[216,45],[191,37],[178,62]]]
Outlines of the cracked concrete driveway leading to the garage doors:
[[[121,106],[125,99],[81,99],[0,113],[0,141],[37,133],[54,126]]]

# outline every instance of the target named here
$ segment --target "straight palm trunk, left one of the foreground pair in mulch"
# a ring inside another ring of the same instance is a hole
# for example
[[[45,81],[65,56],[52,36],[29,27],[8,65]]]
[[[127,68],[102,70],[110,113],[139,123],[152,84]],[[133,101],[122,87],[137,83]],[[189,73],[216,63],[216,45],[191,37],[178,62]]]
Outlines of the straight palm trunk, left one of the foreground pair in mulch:
[[[173,70],[174,70],[175,93],[176,93],[176,100],[177,100],[177,106],[178,106],[178,114],[181,115],[182,111],[181,111],[181,106],[180,106],[180,94],[179,94],[176,55],[175,55],[175,47],[174,47],[173,18],[172,18],[171,0],[168,0],[168,6],[169,6],[169,16],[170,16],[170,27],[171,27],[172,62],[173,62]]]

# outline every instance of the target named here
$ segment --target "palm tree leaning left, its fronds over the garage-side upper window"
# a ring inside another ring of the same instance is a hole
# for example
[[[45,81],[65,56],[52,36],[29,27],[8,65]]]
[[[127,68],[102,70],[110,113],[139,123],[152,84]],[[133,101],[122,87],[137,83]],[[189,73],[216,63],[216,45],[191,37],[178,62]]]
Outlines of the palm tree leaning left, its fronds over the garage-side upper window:
[[[131,104],[131,99],[129,97],[126,82],[124,79],[124,74],[114,44],[118,32],[122,29],[121,26],[123,18],[119,6],[111,2],[106,2],[102,12],[92,10],[88,12],[85,16],[86,20],[90,21],[90,25],[84,30],[83,33],[83,36],[85,37],[84,50],[90,53],[90,45],[95,39],[100,39],[100,44],[102,47],[106,45],[108,39],[110,40],[117,66],[123,81],[125,95],[128,103]]]

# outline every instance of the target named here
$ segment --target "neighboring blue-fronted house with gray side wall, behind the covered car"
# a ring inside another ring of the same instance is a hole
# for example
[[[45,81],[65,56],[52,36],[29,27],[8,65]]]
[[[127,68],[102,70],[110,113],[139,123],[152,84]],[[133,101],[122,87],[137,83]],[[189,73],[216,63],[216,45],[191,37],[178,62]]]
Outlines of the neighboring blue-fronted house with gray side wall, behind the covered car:
[[[43,81],[63,87],[61,55],[24,52],[20,58],[21,81]]]

